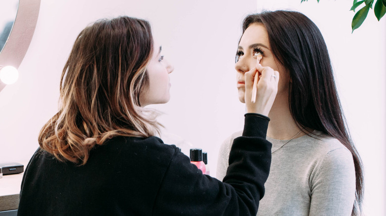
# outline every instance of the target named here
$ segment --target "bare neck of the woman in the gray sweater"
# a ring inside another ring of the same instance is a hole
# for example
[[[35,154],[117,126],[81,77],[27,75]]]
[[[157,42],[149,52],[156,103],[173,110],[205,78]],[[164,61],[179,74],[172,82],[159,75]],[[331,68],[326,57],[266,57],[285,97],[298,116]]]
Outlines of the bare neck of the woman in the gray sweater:
[[[305,135],[296,124],[290,112],[288,95],[277,95],[271,111],[268,114],[271,121],[268,124],[267,136],[277,140],[290,140]],[[297,136],[295,136],[299,133]],[[295,137],[293,137],[295,136]]]

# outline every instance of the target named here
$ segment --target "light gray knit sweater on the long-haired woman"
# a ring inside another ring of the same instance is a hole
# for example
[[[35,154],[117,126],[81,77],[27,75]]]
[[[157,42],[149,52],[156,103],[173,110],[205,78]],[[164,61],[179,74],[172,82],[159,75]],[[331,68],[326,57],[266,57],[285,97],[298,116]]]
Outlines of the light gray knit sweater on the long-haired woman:
[[[224,141],[217,163],[222,180],[237,132]],[[272,151],[283,140],[267,137]],[[355,200],[352,155],[337,139],[314,131],[291,140],[272,154],[265,196],[257,216],[350,216]]]

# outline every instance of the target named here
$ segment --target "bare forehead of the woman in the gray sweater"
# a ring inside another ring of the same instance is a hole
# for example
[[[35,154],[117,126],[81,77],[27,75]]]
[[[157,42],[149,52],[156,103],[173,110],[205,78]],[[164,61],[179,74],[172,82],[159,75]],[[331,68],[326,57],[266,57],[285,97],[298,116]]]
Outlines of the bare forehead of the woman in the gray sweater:
[[[269,47],[268,33],[261,23],[253,23],[242,34],[239,46],[246,48],[250,44],[262,43]]]

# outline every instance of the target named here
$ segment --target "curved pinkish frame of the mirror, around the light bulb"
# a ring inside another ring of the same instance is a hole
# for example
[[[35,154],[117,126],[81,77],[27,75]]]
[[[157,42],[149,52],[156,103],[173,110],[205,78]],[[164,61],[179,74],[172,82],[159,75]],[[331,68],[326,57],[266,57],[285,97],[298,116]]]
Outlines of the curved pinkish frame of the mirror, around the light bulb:
[[[40,0],[19,0],[12,31],[0,53],[0,69],[5,66],[19,68],[34,35],[39,9]],[[4,87],[0,81],[0,91]]]

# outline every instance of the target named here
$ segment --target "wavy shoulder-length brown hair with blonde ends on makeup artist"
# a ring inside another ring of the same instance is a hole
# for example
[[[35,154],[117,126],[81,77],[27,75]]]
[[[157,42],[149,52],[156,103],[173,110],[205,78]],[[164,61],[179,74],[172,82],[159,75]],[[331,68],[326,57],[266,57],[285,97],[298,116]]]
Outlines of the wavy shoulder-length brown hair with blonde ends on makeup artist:
[[[85,28],[64,66],[59,111],[40,131],[40,147],[60,161],[84,165],[90,150],[108,139],[159,133],[156,113],[139,100],[152,52],[145,20],[122,16]]]

